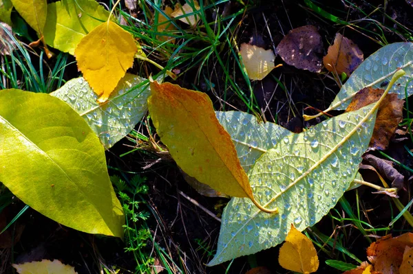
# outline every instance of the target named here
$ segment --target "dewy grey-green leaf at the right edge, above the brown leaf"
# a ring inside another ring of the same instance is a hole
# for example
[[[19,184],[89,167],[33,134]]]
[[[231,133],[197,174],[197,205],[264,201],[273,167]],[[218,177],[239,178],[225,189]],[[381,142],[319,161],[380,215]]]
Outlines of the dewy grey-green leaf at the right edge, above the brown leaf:
[[[365,87],[381,88],[383,82],[390,82],[397,69],[403,69],[405,75],[396,81],[390,93],[396,93],[399,98],[405,98],[407,80],[413,76],[413,43],[393,43],[374,52],[357,67],[343,84],[329,109],[343,110],[351,102],[352,95]],[[413,85],[407,87],[407,95],[413,94]],[[348,99],[348,100],[346,100]],[[345,102],[340,102],[346,100]]]

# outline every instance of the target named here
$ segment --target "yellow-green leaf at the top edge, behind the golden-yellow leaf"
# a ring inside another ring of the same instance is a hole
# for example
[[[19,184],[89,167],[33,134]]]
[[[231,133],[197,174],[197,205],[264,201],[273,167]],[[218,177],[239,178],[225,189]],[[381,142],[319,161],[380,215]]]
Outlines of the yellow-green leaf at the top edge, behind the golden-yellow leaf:
[[[47,5],[47,45],[74,54],[86,34],[106,21],[109,12],[94,0],[62,0]]]

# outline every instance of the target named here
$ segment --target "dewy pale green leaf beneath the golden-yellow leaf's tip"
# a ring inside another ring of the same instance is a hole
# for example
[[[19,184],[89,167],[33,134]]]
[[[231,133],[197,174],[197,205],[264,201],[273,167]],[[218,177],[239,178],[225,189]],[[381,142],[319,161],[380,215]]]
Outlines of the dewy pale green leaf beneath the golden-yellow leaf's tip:
[[[68,81],[50,95],[72,106],[109,149],[131,132],[147,112],[151,91],[149,82],[145,81],[145,78],[127,73],[105,104],[98,104],[98,95],[82,77]]]

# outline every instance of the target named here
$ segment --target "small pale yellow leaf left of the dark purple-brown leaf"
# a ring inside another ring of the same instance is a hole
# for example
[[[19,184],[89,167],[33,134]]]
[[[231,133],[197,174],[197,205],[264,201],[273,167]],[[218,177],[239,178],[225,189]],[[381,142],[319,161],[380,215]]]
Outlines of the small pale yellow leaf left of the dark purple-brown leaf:
[[[240,54],[244,63],[248,78],[251,80],[262,80],[273,69],[275,69],[275,55],[271,49],[243,43]]]

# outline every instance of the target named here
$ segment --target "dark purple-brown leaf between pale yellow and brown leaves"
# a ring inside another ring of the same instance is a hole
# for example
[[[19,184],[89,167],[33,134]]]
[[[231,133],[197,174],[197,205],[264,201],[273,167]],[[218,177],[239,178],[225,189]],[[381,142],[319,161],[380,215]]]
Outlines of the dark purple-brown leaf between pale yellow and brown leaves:
[[[321,71],[322,52],[323,41],[313,25],[291,30],[277,46],[277,54],[288,65],[313,72]]]

